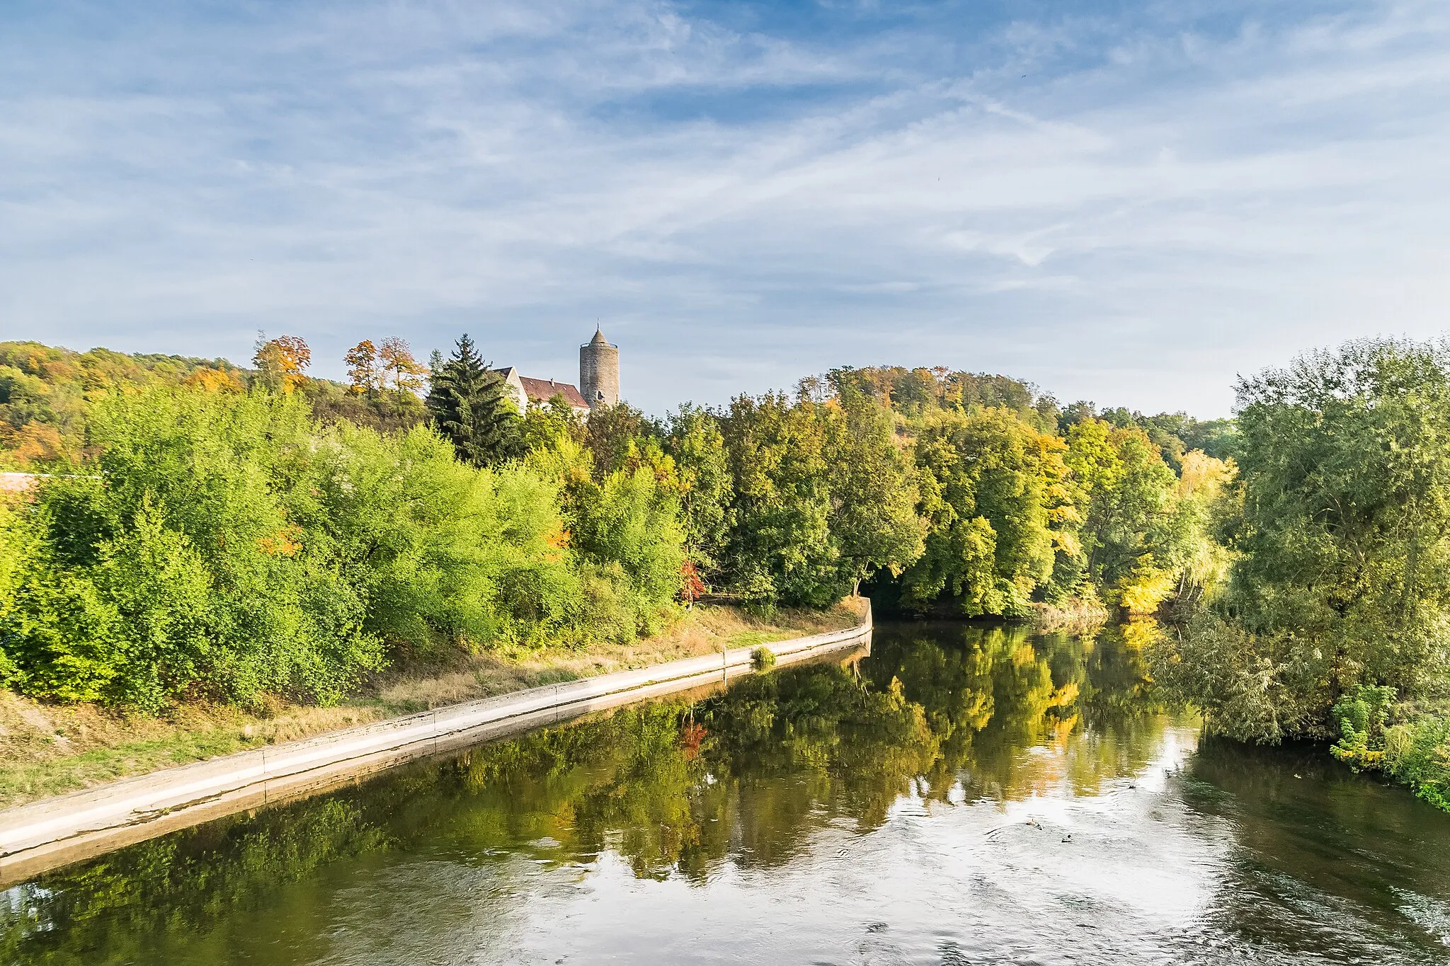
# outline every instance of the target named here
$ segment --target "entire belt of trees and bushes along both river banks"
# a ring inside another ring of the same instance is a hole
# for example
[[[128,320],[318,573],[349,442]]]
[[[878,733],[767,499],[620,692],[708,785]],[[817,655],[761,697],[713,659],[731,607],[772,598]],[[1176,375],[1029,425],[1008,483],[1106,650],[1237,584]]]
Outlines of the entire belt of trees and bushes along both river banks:
[[[866,592],[969,618],[1156,617],[1211,731],[1335,742],[1450,805],[1450,359],[1369,340],[1237,387],[1234,420],[1060,404],[1002,375],[518,413],[464,336],[349,382],[0,343],[0,679],[157,711],[329,702],[442,647],[589,647],[703,594]]]

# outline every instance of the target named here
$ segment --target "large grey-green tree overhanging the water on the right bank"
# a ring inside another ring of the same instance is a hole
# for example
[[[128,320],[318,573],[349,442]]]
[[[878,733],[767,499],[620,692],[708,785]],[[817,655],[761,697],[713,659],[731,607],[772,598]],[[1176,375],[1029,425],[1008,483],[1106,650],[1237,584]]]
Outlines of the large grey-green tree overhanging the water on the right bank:
[[[1441,345],[1351,342],[1238,385],[1237,560],[1164,672],[1241,739],[1338,737],[1359,688],[1450,682],[1450,377]]]

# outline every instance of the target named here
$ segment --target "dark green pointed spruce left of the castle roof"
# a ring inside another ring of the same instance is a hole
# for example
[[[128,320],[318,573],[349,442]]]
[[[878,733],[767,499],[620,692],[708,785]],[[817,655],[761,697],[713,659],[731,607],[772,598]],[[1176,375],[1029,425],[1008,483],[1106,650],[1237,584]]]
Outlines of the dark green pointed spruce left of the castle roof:
[[[505,392],[503,377],[478,356],[467,333],[447,362],[435,364],[428,411],[458,459],[489,466],[516,453],[519,414]]]

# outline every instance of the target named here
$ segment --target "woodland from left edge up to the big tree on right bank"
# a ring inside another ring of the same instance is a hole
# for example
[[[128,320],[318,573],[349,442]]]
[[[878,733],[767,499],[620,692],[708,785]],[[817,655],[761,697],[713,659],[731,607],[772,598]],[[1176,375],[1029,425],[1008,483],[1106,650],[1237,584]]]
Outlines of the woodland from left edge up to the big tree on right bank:
[[[1227,463],[1179,445],[1174,471],[1143,426],[1064,419],[1002,377],[932,372],[914,395],[838,369],[581,420],[560,398],[516,411],[467,336],[426,369],[360,343],[347,387],[309,378],[291,336],[249,371],[0,352],[7,417],[72,407],[52,475],[0,505],[0,676],[48,700],[334,701],[436,647],[629,640],[706,588],[1147,613],[1221,565]]]

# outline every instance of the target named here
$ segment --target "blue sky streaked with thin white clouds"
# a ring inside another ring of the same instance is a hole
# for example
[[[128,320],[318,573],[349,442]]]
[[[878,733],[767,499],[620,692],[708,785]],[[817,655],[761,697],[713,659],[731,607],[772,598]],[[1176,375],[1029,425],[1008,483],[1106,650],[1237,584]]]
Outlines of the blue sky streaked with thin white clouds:
[[[1443,0],[0,0],[0,339],[1209,419],[1447,306]]]

